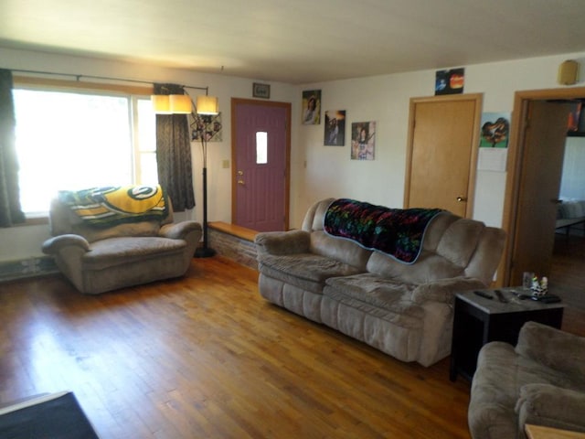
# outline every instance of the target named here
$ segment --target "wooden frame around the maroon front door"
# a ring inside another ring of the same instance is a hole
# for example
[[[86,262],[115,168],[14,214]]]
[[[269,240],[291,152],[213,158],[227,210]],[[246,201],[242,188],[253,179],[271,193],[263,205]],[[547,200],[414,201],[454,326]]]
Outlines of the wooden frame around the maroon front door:
[[[279,107],[285,110],[285,171],[284,171],[284,230],[289,229],[290,200],[291,200],[291,102],[259,101],[256,99],[231,98],[231,223],[236,224],[238,190],[238,169],[236,166],[236,107],[239,104],[257,105],[261,107]]]

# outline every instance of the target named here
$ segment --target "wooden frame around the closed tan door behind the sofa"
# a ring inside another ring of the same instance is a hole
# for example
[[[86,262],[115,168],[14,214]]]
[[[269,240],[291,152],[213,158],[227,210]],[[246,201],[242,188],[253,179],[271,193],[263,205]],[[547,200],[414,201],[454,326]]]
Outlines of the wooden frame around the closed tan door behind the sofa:
[[[475,114],[473,117],[473,137],[470,163],[469,163],[469,180],[467,182],[467,201],[465,203],[465,218],[473,217],[473,205],[475,203],[475,180],[477,177],[477,156],[479,155],[479,125],[482,120],[484,94],[483,93],[463,93],[463,94],[448,94],[442,96],[427,96],[419,98],[410,98],[410,110],[409,110],[409,136],[407,140],[407,151],[406,151],[406,173],[404,177],[404,206],[409,205],[410,199],[410,177],[412,173],[412,143],[414,142],[414,129],[415,129],[415,109],[419,103],[426,102],[462,102],[462,101],[474,101],[475,102]]]

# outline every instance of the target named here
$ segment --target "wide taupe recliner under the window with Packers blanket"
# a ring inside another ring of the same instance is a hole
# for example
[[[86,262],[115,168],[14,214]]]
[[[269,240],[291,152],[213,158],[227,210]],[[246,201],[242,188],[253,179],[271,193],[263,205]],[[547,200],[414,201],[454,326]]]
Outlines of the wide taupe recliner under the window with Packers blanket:
[[[53,199],[49,210],[52,238],[43,243],[43,252],[53,255],[58,269],[85,294],[184,275],[201,239],[201,225],[191,220],[174,223],[171,199],[160,193],[155,195],[158,206],[163,206],[158,211],[150,205],[140,214],[115,209],[120,215],[114,220],[104,207],[112,204],[106,198],[114,190],[134,190],[143,202],[146,197],[144,187],[86,189],[83,197],[97,200],[88,203],[91,209],[101,209],[86,215],[87,220],[79,211],[87,213],[88,209],[71,209],[75,203],[70,197],[59,194]],[[98,218],[100,215],[104,218]]]

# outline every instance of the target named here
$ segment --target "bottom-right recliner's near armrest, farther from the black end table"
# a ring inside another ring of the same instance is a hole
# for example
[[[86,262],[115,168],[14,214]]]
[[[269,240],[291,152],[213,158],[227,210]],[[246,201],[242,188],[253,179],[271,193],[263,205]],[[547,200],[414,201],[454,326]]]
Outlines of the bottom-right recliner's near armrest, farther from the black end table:
[[[585,432],[585,392],[551,384],[526,384],[516,402],[518,427],[525,423]]]

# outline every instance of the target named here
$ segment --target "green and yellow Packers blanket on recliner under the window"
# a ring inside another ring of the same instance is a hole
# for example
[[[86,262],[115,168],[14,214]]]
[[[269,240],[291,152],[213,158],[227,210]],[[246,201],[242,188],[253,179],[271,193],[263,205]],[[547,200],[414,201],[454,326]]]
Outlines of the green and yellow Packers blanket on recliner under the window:
[[[160,220],[168,214],[165,192],[160,185],[61,190],[58,199],[95,227]]]

